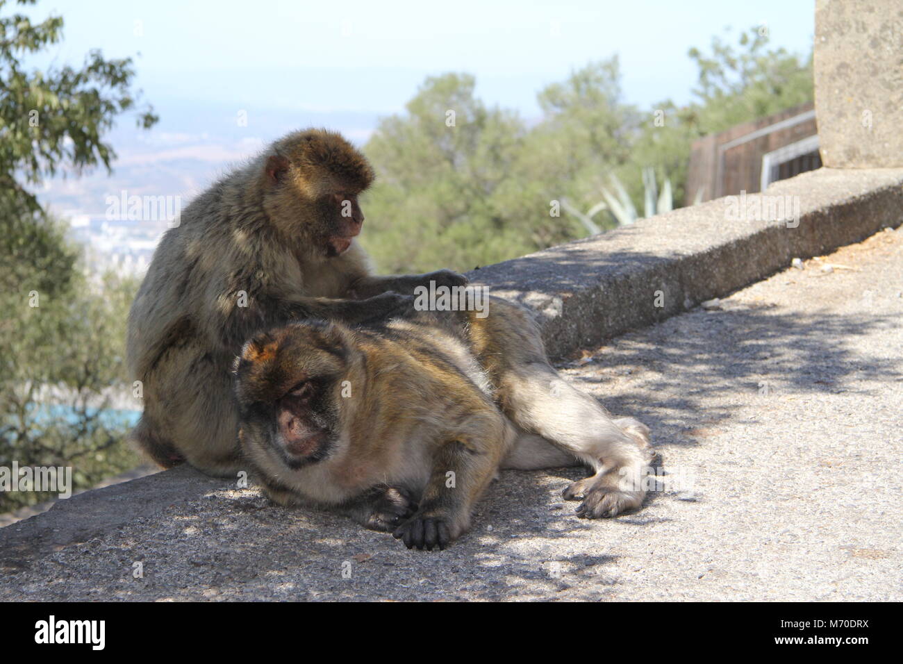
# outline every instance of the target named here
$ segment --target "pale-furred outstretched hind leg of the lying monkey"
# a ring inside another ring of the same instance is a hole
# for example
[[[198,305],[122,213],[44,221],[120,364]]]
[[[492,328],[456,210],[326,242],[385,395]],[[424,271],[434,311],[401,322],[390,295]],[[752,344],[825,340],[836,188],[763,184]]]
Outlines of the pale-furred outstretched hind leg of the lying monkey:
[[[582,500],[578,515],[614,517],[642,504],[642,479],[653,456],[647,426],[610,416],[547,362],[508,369],[500,378],[502,407],[517,426],[557,444],[593,470],[591,477],[563,491],[565,499]]]

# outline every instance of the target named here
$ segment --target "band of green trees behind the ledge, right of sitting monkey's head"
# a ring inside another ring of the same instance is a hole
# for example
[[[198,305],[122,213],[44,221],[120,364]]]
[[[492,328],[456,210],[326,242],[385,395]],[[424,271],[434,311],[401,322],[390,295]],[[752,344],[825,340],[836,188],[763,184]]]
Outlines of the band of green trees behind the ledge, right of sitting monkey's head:
[[[566,209],[592,211],[594,226],[614,228],[606,193],[621,200],[621,187],[639,216],[649,182],[658,183],[649,192],[656,202],[668,185],[679,207],[696,138],[813,98],[811,53],[769,49],[759,29],[734,44],[715,37],[689,56],[699,78],[684,106],[628,104],[615,56],[540,90],[543,116],[532,124],[487,108],[472,76],[426,79],[405,113],[383,118],[364,146],[377,183],[362,241],[379,270],[464,271],[590,234]],[[565,202],[559,216],[552,201]]]

